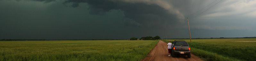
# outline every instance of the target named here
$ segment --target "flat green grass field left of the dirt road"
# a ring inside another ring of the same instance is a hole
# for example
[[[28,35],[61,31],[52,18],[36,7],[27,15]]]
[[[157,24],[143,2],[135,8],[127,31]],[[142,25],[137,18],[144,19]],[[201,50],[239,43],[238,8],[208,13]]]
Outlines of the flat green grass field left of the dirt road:
[[[0,41],[0,61],[139,61],[158,40]]]

